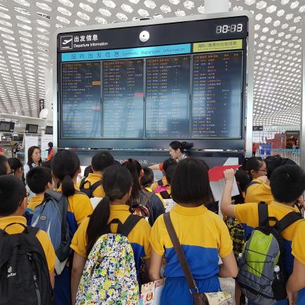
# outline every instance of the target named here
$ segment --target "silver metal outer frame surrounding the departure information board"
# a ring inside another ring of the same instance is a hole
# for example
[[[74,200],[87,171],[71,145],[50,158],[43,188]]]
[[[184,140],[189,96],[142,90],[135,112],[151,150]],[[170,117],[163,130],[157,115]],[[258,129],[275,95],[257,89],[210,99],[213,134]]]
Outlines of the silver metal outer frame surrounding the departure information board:
[[[244,150],[246,145],[247,154],[250,154],[252,149],[252,105],[253,105],[253,50],[254,50],[254,20],[253,15],[249,11],[238,11],[238,12],[225,12],[225,13],[212,13],[203,15],[193,15],[182,18],[164,18],[161,20],[141,20],[137,22],[118,22],[109,25],[92,25],[87,27],[82,27],[81,31],[79,27],[57,29],[53,36],[53,62],[57,62],[57,36],[59,34],[67,34],[72,32],[86,32],[94,31],[100,29],[118,29],[126,27],[145,27],[150,25],[164,25],[168,23],[177,22],[188,22],[196,20],[210,20],[210,19],[222,19],[222,18],[232,18],[246,16],[248,18],[248,37],[247,43],[248,48],[246,49],[246,74],[245,78],[245,88],[243,93],[243,114],[242,114],[242,133],[241,139],[179,139],[179,141],[194,142],[194,149],[231,149],[231,150]],[[224,38],[219,37],[219,40]],[[57,65],[53,65],[53,88],[57,88]],[[129,148],[129,149],[166,149],[168,148],[168,143],[171,140],[176,139],[123,139],[123,140],[104,140],[104,139],[62,139],[60,137],[60,107],[58,107],[57,100],[57,90],[53,90],[53,134],[54,134],[54,146],[59,148]],[[247,118],[245,126],[243,126],[243,121]],[[245,128],[245,129],[244,129]]]

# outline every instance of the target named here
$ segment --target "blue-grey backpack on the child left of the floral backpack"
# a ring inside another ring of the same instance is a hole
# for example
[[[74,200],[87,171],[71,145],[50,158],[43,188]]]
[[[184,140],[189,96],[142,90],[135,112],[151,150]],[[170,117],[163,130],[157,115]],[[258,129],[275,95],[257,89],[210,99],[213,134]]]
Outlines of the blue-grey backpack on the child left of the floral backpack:
[[[32,226],[46,231],[53,244],[55,275],[62,273],[71,253],[67,210],[67,197],[57,191],[47,190],[43,202],[36,207],[32,217]]]

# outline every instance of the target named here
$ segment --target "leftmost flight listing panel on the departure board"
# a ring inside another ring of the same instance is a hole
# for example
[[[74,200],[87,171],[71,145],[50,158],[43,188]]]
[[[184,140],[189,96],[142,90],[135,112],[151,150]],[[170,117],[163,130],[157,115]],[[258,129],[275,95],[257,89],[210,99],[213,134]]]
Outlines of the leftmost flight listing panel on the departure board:
[[[100,62],[62,64],[62,137],[100,138]]]

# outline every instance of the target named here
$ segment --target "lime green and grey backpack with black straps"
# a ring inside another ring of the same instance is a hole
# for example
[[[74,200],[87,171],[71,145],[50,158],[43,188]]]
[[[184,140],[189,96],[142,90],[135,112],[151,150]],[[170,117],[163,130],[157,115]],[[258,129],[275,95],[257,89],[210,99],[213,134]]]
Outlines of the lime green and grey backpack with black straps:
[[[285,299],[287,275],[284,265],[284,244],[280,233],[299,219],[301,215],[290,212],[285,217],[269,217],[268,205],[258,205],[259,226],[246,241],[239,255],[238,284],[249,301],[259,305],[272,305]],[[274,221],[274,226],[269,221]]]

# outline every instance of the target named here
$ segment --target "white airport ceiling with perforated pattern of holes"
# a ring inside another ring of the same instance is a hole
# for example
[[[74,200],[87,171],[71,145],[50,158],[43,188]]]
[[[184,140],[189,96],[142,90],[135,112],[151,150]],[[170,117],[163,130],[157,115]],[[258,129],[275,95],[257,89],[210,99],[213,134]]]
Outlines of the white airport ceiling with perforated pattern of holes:
[[[232,0],[230,9],[255,15],[254,124],[299,124],[305,0]],[[201,13],[203,0],[0,0],[0,113],[39,115],[58,27]]]

